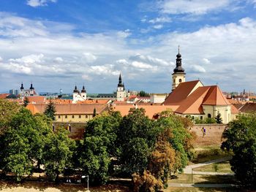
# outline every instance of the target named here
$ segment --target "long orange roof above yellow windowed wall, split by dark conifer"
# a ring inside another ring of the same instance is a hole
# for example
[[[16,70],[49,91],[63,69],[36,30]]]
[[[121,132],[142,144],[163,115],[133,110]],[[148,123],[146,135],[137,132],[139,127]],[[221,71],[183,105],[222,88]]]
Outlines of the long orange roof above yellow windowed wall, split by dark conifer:
[[[33,105],[33,106],[32,106]],[[42,113],[45,111],[47,104],[29,104],[26,108],[34,113]],[[83,115],[83,114],[93,114],[94,108],[96,113],[99,114],[103,110],[108,108],[106,104],[55,104],[56,115]]]

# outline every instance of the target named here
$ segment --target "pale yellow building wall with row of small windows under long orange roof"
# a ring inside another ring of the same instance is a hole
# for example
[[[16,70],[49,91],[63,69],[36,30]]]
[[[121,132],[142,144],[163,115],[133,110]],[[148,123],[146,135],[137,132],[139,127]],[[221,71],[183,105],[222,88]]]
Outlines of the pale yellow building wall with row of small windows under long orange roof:
[[[78,123],[78,122],[87,122],[90,119],[92,119],[93,114],[83,114],[83,115],[56,115],[56,122],[73,122],[73,123]]]

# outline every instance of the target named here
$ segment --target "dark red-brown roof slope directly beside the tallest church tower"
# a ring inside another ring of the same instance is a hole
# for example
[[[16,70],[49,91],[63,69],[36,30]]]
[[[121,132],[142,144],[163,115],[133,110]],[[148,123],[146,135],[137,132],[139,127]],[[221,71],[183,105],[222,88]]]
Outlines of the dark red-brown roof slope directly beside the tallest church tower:
[[[198,82],[200,82],[200,80],[181,82],[178,87],[167,96],[162,104],[179,105],[184,99],[187,99],[187,96],[189,96],[189,93],[191,93]]]

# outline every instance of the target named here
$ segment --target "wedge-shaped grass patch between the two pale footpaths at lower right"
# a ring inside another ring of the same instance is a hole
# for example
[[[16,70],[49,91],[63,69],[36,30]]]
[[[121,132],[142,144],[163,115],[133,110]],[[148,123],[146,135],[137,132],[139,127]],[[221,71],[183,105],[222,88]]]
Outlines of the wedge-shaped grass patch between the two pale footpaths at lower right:
[[[193,169],[195,172],[227,172],[227,173],[233,173],[231,171],[231,166],[229,161],[223,161],[217,164],[211,164],[206,166],[200,166],[195,169]]]

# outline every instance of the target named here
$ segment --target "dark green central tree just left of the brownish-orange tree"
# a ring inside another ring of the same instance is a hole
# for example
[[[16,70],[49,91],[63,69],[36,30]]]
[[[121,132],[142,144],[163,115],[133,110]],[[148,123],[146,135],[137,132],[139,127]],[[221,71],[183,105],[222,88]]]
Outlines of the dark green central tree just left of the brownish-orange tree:
[[[145,110],[130,109],[118,130],[119,161],[125,174],[142,174],[148,166],[148,157],[154,148],[157,135],[155,123],[145,115]]]

